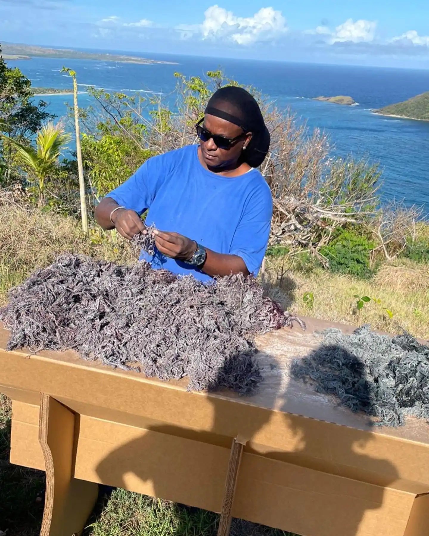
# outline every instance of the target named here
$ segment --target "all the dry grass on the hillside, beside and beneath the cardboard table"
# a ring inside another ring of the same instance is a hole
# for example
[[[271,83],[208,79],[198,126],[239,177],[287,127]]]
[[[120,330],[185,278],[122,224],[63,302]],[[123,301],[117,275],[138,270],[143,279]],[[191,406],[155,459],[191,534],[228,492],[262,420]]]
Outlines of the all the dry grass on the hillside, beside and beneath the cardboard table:
[[[426,234],[425,234],[426,233]],[[2,206],[0,218],[0,304],[8,290],[56,255],[70,251],[127,263],[135,258],[128,244],[101,230],[90,240],[77,222],[18,205]],[[429,226],[421,238],[429,236]],[[282,275],[283,274],[283,275]],[[283,306],[300,315],[373,329],[408,330],[427,338],[429,326],[429,265],[409,259],[381,266],[371,280],[332,274],[321,269],[288,266],[282,258],[268,258],[265,285]],[[304,301],[306,293],[311,300]],[[356,308],[354,295],[380,300]],[[390,318],[385,309],[393,312]],[[9,464],[10,401],[0,395],[0,531],[8,536],[36,536],[40,531],[44,473]],[[117,489],[100,497],[84,536],[215,536],[218,516],[203,510],[153,500]],[[234,536],[286,536],[283,531],[234,520]],[[293,535],[292,535],[293,536]]]

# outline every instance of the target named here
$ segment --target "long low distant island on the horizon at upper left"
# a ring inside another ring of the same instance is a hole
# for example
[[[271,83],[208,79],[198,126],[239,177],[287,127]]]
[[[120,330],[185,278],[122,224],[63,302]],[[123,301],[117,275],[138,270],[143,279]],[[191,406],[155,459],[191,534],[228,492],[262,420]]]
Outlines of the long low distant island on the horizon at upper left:
[[[31,44],[2,43],[3,57],[5,59],[29,59],[32,57],[58,58],[58,59],[95,59],[102,62],[139,63],[152,65],[164,63],[177,65],[174,62],[165,62],[158,59],[140,58],[122,54],[84,52],[66,48],[46,48]],[[12,56],[12,57],[11,57]]]

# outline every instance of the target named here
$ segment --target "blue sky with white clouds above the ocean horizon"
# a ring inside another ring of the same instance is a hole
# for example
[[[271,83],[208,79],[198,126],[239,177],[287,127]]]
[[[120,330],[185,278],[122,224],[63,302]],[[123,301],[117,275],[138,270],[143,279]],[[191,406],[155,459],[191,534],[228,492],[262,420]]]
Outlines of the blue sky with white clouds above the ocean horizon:
[[[0,0],[0,40],[429,68],[427,0]]]

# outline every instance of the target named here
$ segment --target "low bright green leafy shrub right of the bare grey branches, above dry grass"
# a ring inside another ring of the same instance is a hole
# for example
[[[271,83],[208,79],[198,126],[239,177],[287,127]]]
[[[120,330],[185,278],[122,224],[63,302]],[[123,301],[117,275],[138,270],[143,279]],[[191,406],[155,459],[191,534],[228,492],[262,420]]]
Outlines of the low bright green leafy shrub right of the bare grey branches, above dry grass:
[[[375,273],[369,265],[369,254],[373,248],[374,243],[356,230],[340,229],[320,252],[328,259],[331,272],[368,279]]]

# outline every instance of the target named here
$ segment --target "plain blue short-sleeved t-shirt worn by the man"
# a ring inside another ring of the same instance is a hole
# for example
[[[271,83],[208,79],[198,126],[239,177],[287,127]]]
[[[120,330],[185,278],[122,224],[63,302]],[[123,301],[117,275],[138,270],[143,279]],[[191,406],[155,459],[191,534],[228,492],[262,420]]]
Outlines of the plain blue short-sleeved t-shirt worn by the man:
[[[119,205],[142,214],[157,229],[180,233],[217,253],[238,255],[250,273],[260,270],[270,234],[272,197],[257,169],[224,177],[205,169],[198,146],[189,145],[147,160],[127,181],[108,194]],[[211,278],[159,251],[142,251],[154,269]]]

